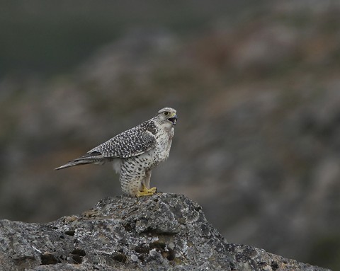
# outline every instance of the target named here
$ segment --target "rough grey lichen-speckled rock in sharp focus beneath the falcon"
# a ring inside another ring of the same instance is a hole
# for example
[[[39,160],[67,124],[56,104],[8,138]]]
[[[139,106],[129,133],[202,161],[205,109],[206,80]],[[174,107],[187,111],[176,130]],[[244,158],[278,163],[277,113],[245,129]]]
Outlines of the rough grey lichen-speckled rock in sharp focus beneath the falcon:
[[[326,270],[227,243],[183,195],[106,198],[48,224],[0,221],[0,270]]]

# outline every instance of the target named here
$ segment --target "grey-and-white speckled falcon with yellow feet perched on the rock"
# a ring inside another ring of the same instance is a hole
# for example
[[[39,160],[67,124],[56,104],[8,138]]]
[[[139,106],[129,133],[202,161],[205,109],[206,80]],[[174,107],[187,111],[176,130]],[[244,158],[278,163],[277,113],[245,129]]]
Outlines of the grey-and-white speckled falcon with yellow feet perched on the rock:
[[[126,130],[96,146],[80,158],[56,169],[87,163],[113,163],[120,173],[123,192],[130,195],[152,195],[149,188],[152,168],[169,157],[177,115],[173,108],[162,108],[152,119]]]

